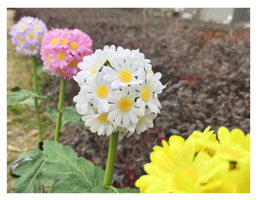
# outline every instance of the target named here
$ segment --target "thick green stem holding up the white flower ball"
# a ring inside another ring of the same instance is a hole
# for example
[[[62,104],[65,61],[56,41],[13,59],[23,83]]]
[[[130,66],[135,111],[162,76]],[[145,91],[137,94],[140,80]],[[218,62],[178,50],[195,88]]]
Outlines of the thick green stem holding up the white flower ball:
[[[108,160],[107,160],[107,166],[103,181],[103,187],[110,186],[112,184],[112,177],[113,177],[113,171],[114,171],[114,165],[116,160],[116,152],[117,152],[117,144],[118,144],[118,132],[114,132],[110,136],[110,142],[109,142],[109,153],[108,153]]]

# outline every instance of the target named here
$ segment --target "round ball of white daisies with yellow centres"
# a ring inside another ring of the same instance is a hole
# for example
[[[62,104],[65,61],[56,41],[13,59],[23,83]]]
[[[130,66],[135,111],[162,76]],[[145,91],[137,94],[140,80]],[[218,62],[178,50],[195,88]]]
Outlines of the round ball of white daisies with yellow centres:
[[[73,78],[80,91],[73,100],[91,132],[141,134],[153,127],[161,108],[158,94],[167,84],[162,85],[161,73],[154,74],[139,49],[105,46],[78,67],[81,71]]]

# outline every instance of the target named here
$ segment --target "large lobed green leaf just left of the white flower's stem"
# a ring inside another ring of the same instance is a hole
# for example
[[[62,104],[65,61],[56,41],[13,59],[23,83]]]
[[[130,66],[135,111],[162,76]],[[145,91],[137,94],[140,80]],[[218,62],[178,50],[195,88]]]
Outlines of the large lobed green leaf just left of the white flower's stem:
[[[90,193],[103,185],[104,170],[84,158],[78,158],[69,146],[44,141],[43,149],[46,160],[50,162],[43,168],[43,174],[61,179],[54,184],[51,193]]]

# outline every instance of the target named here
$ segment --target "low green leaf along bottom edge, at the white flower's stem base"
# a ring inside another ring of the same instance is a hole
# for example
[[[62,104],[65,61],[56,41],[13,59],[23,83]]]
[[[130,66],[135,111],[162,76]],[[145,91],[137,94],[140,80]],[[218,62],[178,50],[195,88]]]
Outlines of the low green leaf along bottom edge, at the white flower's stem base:
[[[94,188],[91,193],[139,193],[139,190],[136,188],[115,188],[113,186],[109,187],[96,187]]]

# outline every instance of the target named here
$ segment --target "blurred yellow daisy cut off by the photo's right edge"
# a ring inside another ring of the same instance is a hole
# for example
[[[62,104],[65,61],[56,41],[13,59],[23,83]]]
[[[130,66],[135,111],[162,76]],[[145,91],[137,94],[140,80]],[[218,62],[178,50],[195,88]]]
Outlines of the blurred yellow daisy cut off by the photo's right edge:
[[[250,133],[220,127],[217,136],[220,145],[215,156],[230,166],[228,173],[221,174],[223,184],[215,192],[250,193]]]

